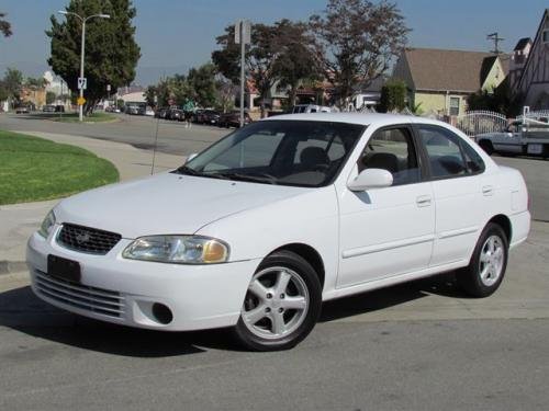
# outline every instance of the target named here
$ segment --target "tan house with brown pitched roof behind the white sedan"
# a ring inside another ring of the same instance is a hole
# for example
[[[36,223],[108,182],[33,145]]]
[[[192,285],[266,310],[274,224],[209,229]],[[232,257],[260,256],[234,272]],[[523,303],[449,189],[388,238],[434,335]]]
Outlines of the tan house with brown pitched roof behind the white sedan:
[[[427,113],[460,115],[467,98],[479,90],[491,91],[505,79],[509,58],[482,52],[436,48],[405,49],[393,70],[403,80],[412,106]]]

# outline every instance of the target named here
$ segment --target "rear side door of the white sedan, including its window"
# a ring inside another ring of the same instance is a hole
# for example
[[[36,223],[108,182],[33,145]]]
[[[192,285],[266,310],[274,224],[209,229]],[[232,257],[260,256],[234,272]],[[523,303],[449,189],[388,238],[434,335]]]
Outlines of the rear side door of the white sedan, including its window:
[[[458,262],[468,258],[477,242],[483,196],[494,187],[482,185],[482,159],[460,136],[437,125],[418,124],[416,132],[435,195],[436,240],[429,265]]]

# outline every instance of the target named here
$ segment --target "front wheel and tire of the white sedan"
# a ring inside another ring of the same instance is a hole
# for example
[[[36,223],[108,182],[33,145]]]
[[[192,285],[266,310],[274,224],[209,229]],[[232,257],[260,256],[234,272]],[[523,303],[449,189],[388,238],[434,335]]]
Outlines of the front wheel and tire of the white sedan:
[[[254,274],[234,334],[251,351],[292,349],[313,330],[321,307],[321,282],[311,264],[293,252],[276,252]]]

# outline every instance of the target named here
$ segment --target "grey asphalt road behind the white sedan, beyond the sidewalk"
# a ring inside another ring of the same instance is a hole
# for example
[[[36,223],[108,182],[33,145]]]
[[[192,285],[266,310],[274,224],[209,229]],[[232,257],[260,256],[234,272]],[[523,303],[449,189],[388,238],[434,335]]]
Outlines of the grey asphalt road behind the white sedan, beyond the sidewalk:
[[[117,117],[119,122],[108,124],[70,124],[44,121],[41,114],[0,114],[0,129],[85,136],[126,142],[144,149],[152,149],[156,140],[159,151],[181,156],[201,151],[231,132],[203,125],[186,128],[183,123],[152,117],[124,114]],[[520,170],[530,193],[534,218],[549,221],[549,161],[537,158],[493,158],[497,163]]]

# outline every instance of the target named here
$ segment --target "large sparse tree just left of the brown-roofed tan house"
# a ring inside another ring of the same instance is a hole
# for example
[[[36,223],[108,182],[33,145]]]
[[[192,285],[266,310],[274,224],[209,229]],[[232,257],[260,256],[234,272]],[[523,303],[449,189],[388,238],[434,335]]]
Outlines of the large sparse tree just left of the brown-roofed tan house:
[[[396,5],[385,0],[328,0],[323,15],[311,16],[310,26],[340,107],[389,69],[410,32]]]

